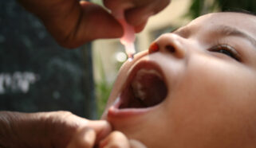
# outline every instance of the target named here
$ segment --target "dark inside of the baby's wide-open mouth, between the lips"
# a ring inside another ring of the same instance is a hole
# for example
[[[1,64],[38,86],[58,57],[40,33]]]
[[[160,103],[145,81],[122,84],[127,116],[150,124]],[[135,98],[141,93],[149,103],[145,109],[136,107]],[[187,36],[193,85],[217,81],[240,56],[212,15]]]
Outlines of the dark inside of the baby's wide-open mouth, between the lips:
[[[144,61],[132,69],[120,94],[119,109],[154,107],[166,98],[163,72],[155,63]]]

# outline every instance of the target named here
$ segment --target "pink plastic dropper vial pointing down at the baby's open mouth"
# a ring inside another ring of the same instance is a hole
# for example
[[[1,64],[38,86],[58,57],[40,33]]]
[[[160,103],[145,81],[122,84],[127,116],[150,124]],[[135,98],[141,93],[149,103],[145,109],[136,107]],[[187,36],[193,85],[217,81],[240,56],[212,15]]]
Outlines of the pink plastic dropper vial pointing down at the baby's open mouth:
[[[136,53],[134,41],[135,41],[135,30],[132,25],[129,25],[124,18],[124,10],[118,10],[112,12],[116,19],[120,22],[124,29],[124,35],[120,38],[120,42],[124,45],[125,53],[128,56],[128,60],[132,61],[133,56]]]

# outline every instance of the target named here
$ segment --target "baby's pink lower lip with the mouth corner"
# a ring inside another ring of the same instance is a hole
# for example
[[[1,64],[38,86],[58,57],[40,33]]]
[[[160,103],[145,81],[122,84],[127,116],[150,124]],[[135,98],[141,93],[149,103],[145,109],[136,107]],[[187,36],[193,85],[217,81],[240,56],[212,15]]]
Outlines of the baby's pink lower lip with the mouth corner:
[[[152,107],[147,108],[122,108],[120,109],[121,99],[116,99],[116,102],[108,109],[108,118],[130,118],[138,115],[144,115],[152,109]]]

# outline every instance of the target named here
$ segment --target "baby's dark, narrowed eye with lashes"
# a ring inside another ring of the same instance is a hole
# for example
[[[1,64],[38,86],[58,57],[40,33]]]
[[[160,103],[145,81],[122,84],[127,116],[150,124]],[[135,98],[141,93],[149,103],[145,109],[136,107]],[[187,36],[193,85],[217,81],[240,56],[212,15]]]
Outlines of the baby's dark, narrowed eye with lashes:
[[[239,60],[238,52],[230,45],[216,45],[210,49],[211,52],[223,53],[226,56],[230,56],[234,60]]]

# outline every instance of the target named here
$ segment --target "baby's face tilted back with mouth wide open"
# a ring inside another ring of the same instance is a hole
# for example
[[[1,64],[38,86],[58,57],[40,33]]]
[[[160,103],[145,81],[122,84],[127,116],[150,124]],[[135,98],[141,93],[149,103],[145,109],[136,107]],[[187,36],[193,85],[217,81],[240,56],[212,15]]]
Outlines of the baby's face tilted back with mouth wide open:
[[[120,69],[103,118],[148,147],[255,147],[255,24],[207,14],[163,34]]]

